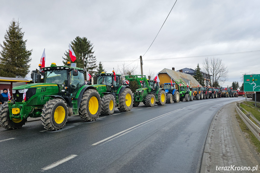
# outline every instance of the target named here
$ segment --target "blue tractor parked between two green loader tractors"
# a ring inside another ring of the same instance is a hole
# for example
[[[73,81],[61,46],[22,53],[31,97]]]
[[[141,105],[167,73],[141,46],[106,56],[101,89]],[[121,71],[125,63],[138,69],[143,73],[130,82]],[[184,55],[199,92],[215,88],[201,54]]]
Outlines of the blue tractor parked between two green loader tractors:
[[[166,103],[178,103],[180,101],[180,93],[176,89],[175,83],[171,85],[171,83],[164,83],[163,89],[166,93]]]

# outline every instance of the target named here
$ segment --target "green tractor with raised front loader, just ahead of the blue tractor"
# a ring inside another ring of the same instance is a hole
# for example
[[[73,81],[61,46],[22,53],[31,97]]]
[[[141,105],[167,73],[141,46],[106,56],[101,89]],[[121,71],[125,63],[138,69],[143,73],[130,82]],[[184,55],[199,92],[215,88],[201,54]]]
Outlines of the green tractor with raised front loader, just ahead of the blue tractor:
[[[154,80],[147,80],[145,75],[126,75],[125,79],[136,81],[138,85],[138,89],[134,93],[134,107],[138,107],[140,102],[147,107],[154,107],[155,103],[158,105],[166,103],[165,90],[156,85]]]

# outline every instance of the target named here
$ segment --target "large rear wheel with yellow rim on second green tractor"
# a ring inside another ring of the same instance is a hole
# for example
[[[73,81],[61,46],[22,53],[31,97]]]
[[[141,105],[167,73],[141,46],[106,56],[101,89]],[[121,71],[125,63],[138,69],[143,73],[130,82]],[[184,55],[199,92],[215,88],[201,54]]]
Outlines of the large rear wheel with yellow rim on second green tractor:
[[[131,100],[129,100],[131,99]],[[133,107],[133,93],[129,88],[125,88],[120,94],[119,107],[117,108],[121,112],[128,112]]]

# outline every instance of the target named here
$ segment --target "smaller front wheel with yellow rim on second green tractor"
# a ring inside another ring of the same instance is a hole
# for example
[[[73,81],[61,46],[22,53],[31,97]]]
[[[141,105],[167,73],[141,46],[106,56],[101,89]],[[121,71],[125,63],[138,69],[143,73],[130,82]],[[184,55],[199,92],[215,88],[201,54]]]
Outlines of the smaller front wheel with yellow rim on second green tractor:
[[[101,99],[101,115],[112,115],[115,111],[116,100],[112,94],[104,95]]]

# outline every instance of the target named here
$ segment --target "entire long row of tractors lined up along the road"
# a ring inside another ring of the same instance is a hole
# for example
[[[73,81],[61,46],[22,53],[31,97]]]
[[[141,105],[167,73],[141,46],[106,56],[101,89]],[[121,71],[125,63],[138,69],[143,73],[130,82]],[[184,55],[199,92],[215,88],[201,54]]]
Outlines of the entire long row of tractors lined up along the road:
[[[0,125],[6,129],[21,128],[28,117],[41,117],[47,130],[64,127],[68,116],[79,115],[84,121],[95,121],[99,115],[112,115],[115,108],[127,112],[140,102],[147,107],[179,101],[233,97],[230,89],[193,87],[192,91],[181,79],[174,84],[147,80],[142,75],[96,74],[86,85],[86,70],[77,67],[56,66],[34,70],[37,82],[12,88],[12,98],[0,108]],[[43,80],[41,79],[43,76]],[[134,88],[133,88],[134,87]]]

